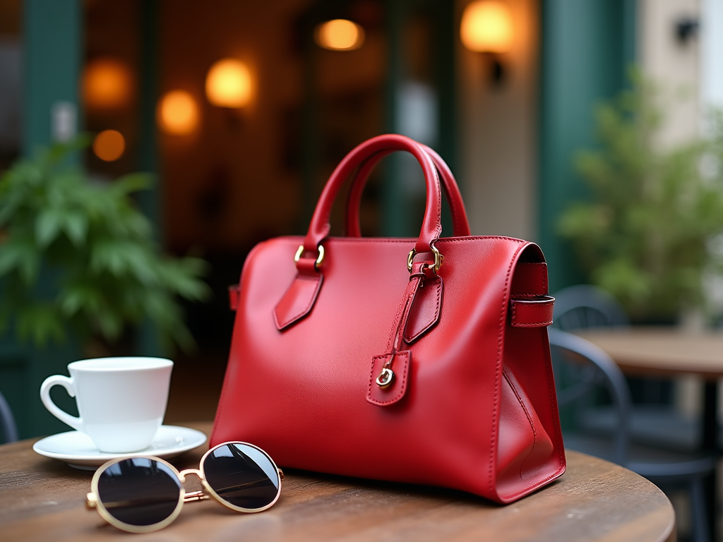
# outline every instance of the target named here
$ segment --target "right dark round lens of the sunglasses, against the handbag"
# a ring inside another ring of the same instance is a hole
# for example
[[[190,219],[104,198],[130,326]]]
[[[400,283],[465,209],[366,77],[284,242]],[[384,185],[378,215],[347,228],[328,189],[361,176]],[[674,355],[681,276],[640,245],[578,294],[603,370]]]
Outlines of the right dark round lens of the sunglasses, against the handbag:
[[[247,444],[223,444],[203,462],[203,473],[211,489],[229,504],[259,509],[278,495],[279,477],[264,452]]]

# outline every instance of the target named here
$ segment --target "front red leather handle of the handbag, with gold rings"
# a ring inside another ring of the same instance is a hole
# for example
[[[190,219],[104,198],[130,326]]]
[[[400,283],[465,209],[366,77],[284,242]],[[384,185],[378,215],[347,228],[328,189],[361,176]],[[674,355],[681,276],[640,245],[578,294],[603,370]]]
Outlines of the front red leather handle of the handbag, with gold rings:
[[[406,150],[416,158],[419,165],[422,166],[424,181],[427,183],[427,203],[424,208],[422,230],[419,232],[419,239],[414,248],[417,254],[436,251],[436,249],[432,249],[432,246],[437,238],[439,238],[440,233],[442,233],[442,194],[440,192],[440,180],[437,176],[435,163],[422,145],[414,141],[414,139],[409,139],[398,134],[386,134],[368,139],[361,143],[361,145],[355,147],[354,150],[349,152],[348,155],[341,160],[341,163],[339,163],[333,173],[331,173],[319,198],[314,215],[312,216],[307,236],[304,238],[303,252],[312,253],[316,258],[317,251],[320,251],[319,245],[324,238],[329,235],[331,207],[346,178],[351,175],[356,168],[359,168],[364,161],[372,158],[372,156],[377,153],[396,150]],[[299,254],[299,256],[301,256],[301,254]],[[321,257],[321,254],[319,254],[319,257]],[[299,268],[301,262],[302,259],[297,258],[297,268]]]

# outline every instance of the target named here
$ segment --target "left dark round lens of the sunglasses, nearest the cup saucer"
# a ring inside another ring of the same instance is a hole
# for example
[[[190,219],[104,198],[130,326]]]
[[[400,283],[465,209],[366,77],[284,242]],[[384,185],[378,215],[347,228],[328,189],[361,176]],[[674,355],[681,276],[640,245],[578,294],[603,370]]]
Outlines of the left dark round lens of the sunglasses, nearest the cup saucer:
[[[160,461],[134,457],[114,463],[98,478],[98,498],[116,520],[155,525],[174,513],[181,481]]]

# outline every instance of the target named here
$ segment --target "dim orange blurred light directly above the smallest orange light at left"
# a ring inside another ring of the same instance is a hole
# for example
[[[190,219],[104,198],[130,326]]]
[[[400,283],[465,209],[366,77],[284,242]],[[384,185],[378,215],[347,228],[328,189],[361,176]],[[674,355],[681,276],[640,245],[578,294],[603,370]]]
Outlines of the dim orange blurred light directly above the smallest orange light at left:
[[[111,109],[124,106],[131,95],[128,67],[113,59],[98,59],[85,66],[82,91],[85,105]]]

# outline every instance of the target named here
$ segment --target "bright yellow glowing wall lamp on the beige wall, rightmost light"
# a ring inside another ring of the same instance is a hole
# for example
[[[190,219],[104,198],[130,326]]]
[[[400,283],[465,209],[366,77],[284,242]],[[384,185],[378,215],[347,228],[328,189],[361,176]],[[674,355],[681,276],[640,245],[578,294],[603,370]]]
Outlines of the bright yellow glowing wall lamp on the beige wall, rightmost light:
[[[507,4],[495,0],[479,0],[467,4],[462,14],[460,38],[470,51],[509,51],[512,47],[513,28]]]

